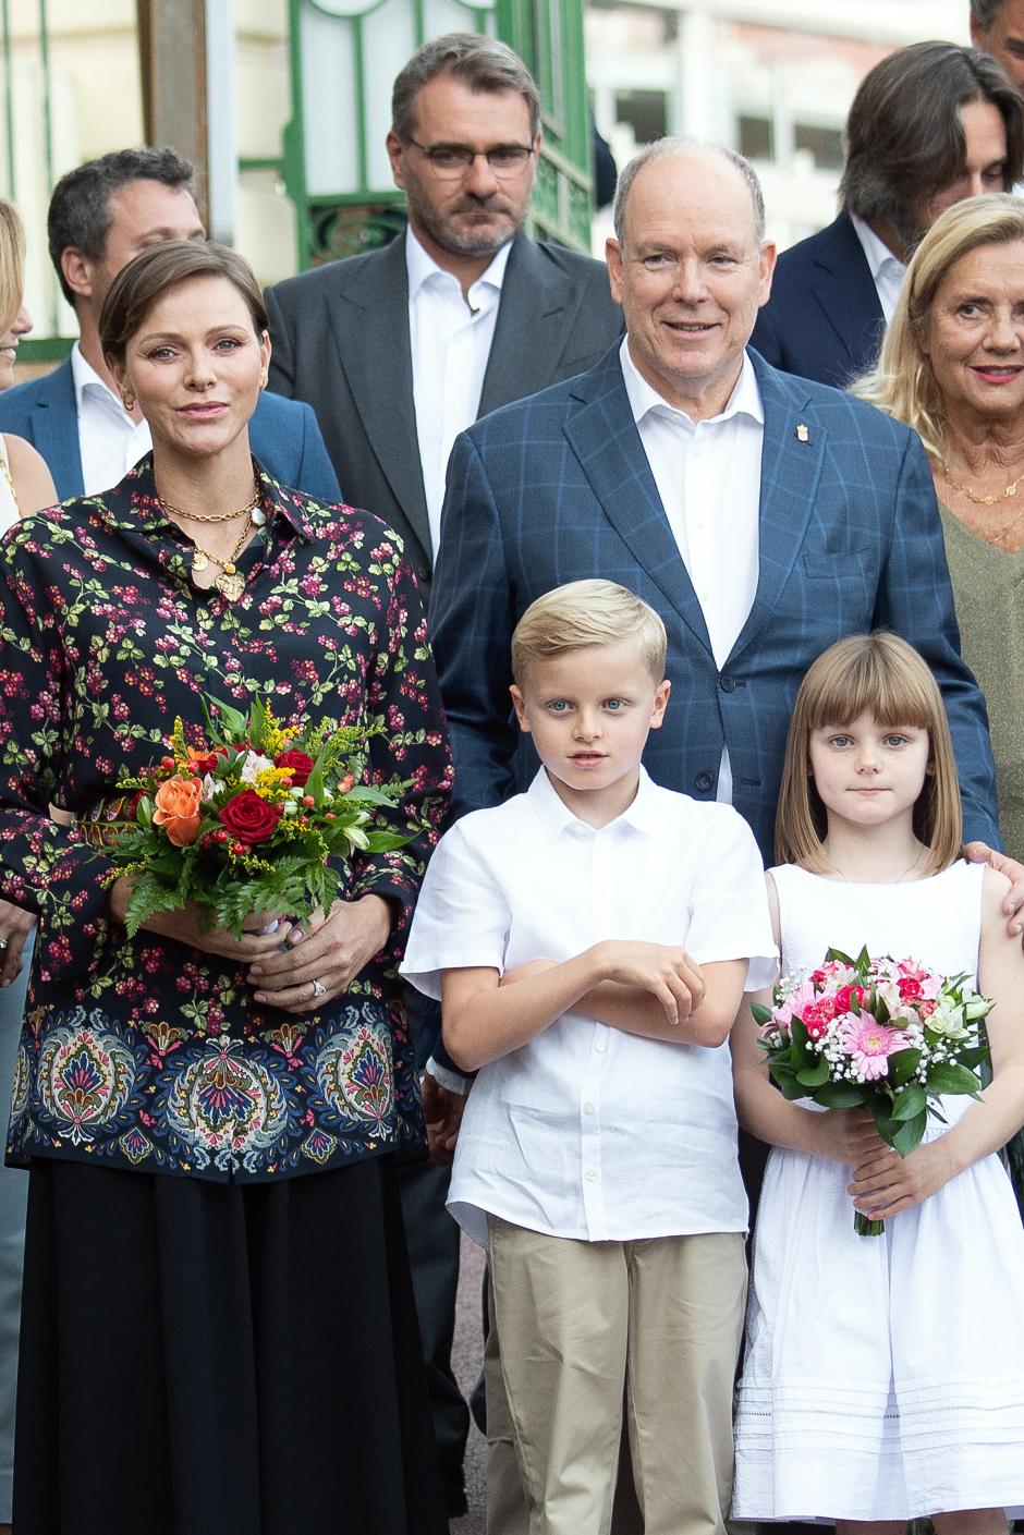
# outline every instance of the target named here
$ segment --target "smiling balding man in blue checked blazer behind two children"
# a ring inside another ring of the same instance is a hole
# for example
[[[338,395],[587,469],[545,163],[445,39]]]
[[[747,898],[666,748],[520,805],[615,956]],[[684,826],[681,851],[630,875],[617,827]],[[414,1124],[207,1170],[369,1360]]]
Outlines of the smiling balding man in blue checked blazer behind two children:
[[[524,780],[508,706],[519,616],[603,576],[668,628],[672,700],[651,775],[731,797],[766,860],[800,680],[834,640],[881,625],[932,666],[966,835],[998,846],[984,703],[960,657],[921,444],[746,350],[774,266],[761,220],[738,158],[648,146],[623,172],[608,243],[626,342],[456,441],[431,629],[459,806]]]

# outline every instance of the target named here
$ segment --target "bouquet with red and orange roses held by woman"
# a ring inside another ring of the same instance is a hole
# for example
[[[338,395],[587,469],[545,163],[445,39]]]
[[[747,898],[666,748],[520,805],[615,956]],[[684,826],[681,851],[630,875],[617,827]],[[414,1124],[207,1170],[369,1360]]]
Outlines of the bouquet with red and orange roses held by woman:
[[[210,703],[198,744],[175,720],[167,755],[120,778],[118,798],[84,826],[114,861],[109,883],[132,878],[129,936],[187,903],[201,930],[235,938],[253,912],[269,924],[309,919],[330,909],[353,853],[402,847],[413,835],[379,824],[404,784],[362,781],[365,731],[292,731],[259,700],[247,715]]]

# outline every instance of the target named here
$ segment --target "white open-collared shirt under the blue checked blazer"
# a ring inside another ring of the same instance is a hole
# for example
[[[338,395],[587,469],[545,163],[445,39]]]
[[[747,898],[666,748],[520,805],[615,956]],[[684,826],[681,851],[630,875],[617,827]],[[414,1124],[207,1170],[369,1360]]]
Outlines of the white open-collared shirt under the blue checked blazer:
[[[754,364],[745,352],[722,414],[694,422],[637,371],[628,336],[619,356],[633,419],[722,671],[757,593],[765,407]],[[717,798],[732,803],[728,751]]]

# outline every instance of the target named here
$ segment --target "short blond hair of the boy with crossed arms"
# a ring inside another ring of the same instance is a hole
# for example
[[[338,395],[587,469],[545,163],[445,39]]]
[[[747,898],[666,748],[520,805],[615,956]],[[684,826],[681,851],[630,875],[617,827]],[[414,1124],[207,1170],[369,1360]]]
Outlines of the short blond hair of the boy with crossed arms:
[[[531,602],[511,639],[516,683],[528,662],[562,655],[588,645],[636,640],[640,659],[656,683],[665,677],[668,640],[662,619],[636,593],[611,580],[573,580]]]

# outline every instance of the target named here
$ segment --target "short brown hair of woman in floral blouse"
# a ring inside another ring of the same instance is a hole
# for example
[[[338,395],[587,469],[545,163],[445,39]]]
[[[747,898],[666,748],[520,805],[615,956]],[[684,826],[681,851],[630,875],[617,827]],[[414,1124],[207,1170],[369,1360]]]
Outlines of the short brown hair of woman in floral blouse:
[[[100,313],[103,355],[123,364],[127,344],[146,321],[154,304],[181,282],[193,278],[226,278],[249,307],[258,336],[267,328],[267,309],[249,262],[212,241],[166,239],[149,246],[114,278]]]

